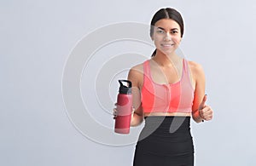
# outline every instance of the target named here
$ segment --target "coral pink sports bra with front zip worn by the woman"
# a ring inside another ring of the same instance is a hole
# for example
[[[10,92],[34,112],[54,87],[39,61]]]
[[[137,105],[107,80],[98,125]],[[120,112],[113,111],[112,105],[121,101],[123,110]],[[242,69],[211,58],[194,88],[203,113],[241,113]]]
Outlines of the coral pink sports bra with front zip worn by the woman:
[[[189,77],[187,60],[183,59],[182,77],[177,83],[154,83],[150,73],[149,60],[143,63],[143,112],[192,112],[194,89]]]

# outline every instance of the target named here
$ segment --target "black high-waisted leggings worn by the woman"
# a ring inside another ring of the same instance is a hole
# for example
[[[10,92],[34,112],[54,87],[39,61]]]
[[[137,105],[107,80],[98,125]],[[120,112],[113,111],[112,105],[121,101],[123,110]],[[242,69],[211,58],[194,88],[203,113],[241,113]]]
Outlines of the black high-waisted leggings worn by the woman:
[[[133,166],[193,166],[190,117],[145,117]]]

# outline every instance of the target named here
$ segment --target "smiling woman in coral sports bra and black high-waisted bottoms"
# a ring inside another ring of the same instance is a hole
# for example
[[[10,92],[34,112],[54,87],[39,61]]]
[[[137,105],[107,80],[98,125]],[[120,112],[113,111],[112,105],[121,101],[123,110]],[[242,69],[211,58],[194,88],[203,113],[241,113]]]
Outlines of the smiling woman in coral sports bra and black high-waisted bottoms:
[[[183,37],[177,10],[157,11],[150,37],[156,48],[151,59],[132,67],[128,75],[135,107],[131,126],[145,119],[133,165],[194,165],[190,117],[196,123],[212,119],[212,109],[205,104],[203,69],[175,53]]]

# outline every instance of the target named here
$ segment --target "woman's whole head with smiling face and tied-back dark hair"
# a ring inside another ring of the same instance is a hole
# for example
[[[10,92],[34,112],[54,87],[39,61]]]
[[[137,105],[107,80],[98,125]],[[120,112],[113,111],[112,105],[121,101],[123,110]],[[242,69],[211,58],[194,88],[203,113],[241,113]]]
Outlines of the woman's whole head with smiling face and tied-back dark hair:
[[[172,52],[173,49],[177,49],[183,37],[183,31],[183,18],[176,9],[160,9],[151,20],[150,37],[154,40],[156,49],[160,49],[162,52]],[[168,48],[168,45],[162,47],[166,43],[172,44],[172,48]],[[155,54],[156,50],[154,50],[152,56]]]

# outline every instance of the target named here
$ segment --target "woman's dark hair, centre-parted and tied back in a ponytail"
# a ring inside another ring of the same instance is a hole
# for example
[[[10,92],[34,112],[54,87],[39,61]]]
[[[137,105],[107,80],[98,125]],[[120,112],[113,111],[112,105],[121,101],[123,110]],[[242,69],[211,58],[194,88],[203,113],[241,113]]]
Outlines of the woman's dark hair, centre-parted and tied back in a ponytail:
[[[158,20],[162,20],[162,19],[175,20],[177,22],[177,24],[180,26],[181,37],[183,37],[183,32],[184,32],[183,17],[176,9],[172,9],[172,8],[160,9],[154,14],[154,16],[151,20],[150,37],[153,37],[155,23]],[[152,57],[155,54],[156,54],[156,49],[154,49],[154,53],[152,54]]]

